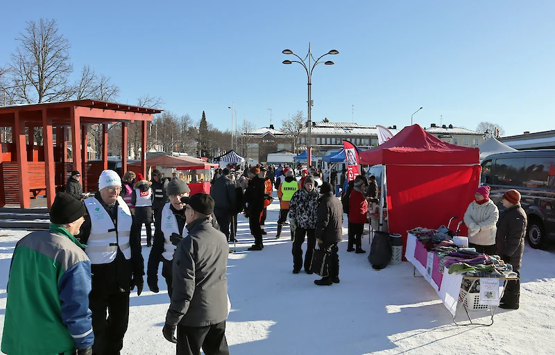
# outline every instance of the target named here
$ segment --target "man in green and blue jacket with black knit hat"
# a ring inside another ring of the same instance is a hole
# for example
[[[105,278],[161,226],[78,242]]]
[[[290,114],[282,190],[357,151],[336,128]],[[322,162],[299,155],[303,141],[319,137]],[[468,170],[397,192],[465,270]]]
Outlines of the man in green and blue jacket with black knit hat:
[[[8,355],[91,355],[91,266],[74,237],[85,205],[56,195],[50,231],[33,232],[15,246],[1,350]]]

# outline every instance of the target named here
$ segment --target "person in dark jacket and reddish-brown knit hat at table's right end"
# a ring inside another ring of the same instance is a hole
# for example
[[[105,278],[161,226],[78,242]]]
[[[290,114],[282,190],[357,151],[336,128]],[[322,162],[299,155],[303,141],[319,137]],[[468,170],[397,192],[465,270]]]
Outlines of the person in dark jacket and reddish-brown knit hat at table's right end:
[[[528,224],[526,212],[520,206],[520,193],[509,190],[503,194],[503,207],[499,212],[497,220],[497,234],[495,244],[497,254],[505,263],[513,266],[518,280],[509,281],[505,287],[505,293],[499,301],[499,307],[503,309],[518,309],[520,306],[520,272],[522,266],[522,254],[524,253],[524,236]]]

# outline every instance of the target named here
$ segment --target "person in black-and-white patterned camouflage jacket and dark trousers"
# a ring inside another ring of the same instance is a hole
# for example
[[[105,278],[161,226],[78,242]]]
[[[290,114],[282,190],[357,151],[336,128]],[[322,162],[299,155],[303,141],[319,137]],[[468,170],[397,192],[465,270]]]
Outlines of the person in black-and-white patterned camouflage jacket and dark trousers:
[[[305,243],[305,236],[307,236],[305,271],[307,274],[312,273],[309,265],[312,259],[312,252],[316,246],[316,211],[318,210],[319,199],[320,193],[314,189],[314,178],[309,176],[305,180],[304,187],[294,193],[291,202],[289,202],[289,218],[293,220],[291,224],[296,225],[292,250],[293,274],[298,274],[302,267],[302,243]]]

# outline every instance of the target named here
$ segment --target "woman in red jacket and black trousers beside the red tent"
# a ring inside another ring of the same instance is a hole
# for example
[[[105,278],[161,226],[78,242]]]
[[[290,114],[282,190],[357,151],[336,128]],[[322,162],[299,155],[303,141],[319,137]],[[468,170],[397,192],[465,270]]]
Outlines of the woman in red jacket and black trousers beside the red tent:
[[[366,201],[366,185],[362,176],[357,176],[355,185],[349,196],[349,243],[348,252],[352,252],[352,245],[357,245],[357,254],[364,254],[362,250],[362,232],[364,231],[364,223],[368,223],[366,211],[368,211],[368,202]]]

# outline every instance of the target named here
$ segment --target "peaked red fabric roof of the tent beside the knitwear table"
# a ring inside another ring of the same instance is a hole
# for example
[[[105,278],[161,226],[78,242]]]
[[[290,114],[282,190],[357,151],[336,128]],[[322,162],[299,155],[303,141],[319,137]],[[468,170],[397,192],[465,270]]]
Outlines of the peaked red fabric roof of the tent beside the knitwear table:
[[[455,146],[429,134],[420,125],[403,128],[375,148],[359,152],[360,164],[479,164],[478,148]]]

